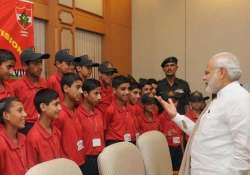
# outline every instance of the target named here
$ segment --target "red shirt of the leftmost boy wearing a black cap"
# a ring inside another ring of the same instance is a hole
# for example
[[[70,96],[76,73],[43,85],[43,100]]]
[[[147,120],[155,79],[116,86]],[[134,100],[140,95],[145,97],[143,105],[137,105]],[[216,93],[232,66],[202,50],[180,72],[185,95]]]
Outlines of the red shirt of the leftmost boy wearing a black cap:
[[[39,118],[39,114],[34,105],[34,98],[37,91],[48,87],[47,81],[40,78],[37,83],[33,83],[27,76],[24,76],[13,82],[12,86],[15,96],[23,103],[25,112],[27,113],[25,121],[35,123]]]

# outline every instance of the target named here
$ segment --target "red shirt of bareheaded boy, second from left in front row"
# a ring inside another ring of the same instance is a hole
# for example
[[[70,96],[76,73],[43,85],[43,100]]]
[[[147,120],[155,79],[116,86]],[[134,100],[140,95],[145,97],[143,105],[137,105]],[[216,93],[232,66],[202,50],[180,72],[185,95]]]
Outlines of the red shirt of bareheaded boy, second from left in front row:
[[[49,134],[37,121],[27,135],[27,159],[29,167],[48,160],[64,157],[61,133],[52,128]]]

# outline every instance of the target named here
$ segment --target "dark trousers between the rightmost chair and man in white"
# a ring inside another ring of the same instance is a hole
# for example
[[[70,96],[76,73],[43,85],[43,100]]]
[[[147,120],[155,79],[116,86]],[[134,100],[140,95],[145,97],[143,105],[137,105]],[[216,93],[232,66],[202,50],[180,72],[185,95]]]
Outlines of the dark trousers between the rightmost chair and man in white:
[[[169,146],[169,151],[171,155],[173,170],[178,171],[181,166],[181,161],[183,157],[183,151],[181,146]]]

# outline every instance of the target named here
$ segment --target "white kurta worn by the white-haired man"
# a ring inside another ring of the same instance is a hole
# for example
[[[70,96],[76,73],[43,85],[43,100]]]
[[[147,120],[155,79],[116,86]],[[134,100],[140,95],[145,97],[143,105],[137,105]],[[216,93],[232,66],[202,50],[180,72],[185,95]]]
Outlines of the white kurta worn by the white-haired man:
[[[187,134],[194,123],[173,119]],[[250,170],[250,94],[238,82],[217,93],[191,145],[191,175],[240,175]]]

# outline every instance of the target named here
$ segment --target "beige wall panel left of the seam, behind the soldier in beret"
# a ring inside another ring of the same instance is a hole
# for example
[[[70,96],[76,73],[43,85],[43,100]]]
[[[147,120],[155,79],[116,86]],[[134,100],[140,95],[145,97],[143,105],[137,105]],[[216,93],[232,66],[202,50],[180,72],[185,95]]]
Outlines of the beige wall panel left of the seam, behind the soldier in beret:
[[[185,75],[185,3],[183,0],[132,1],[132,72],[136,78],[164,77],[160,64],[177,56]]]

